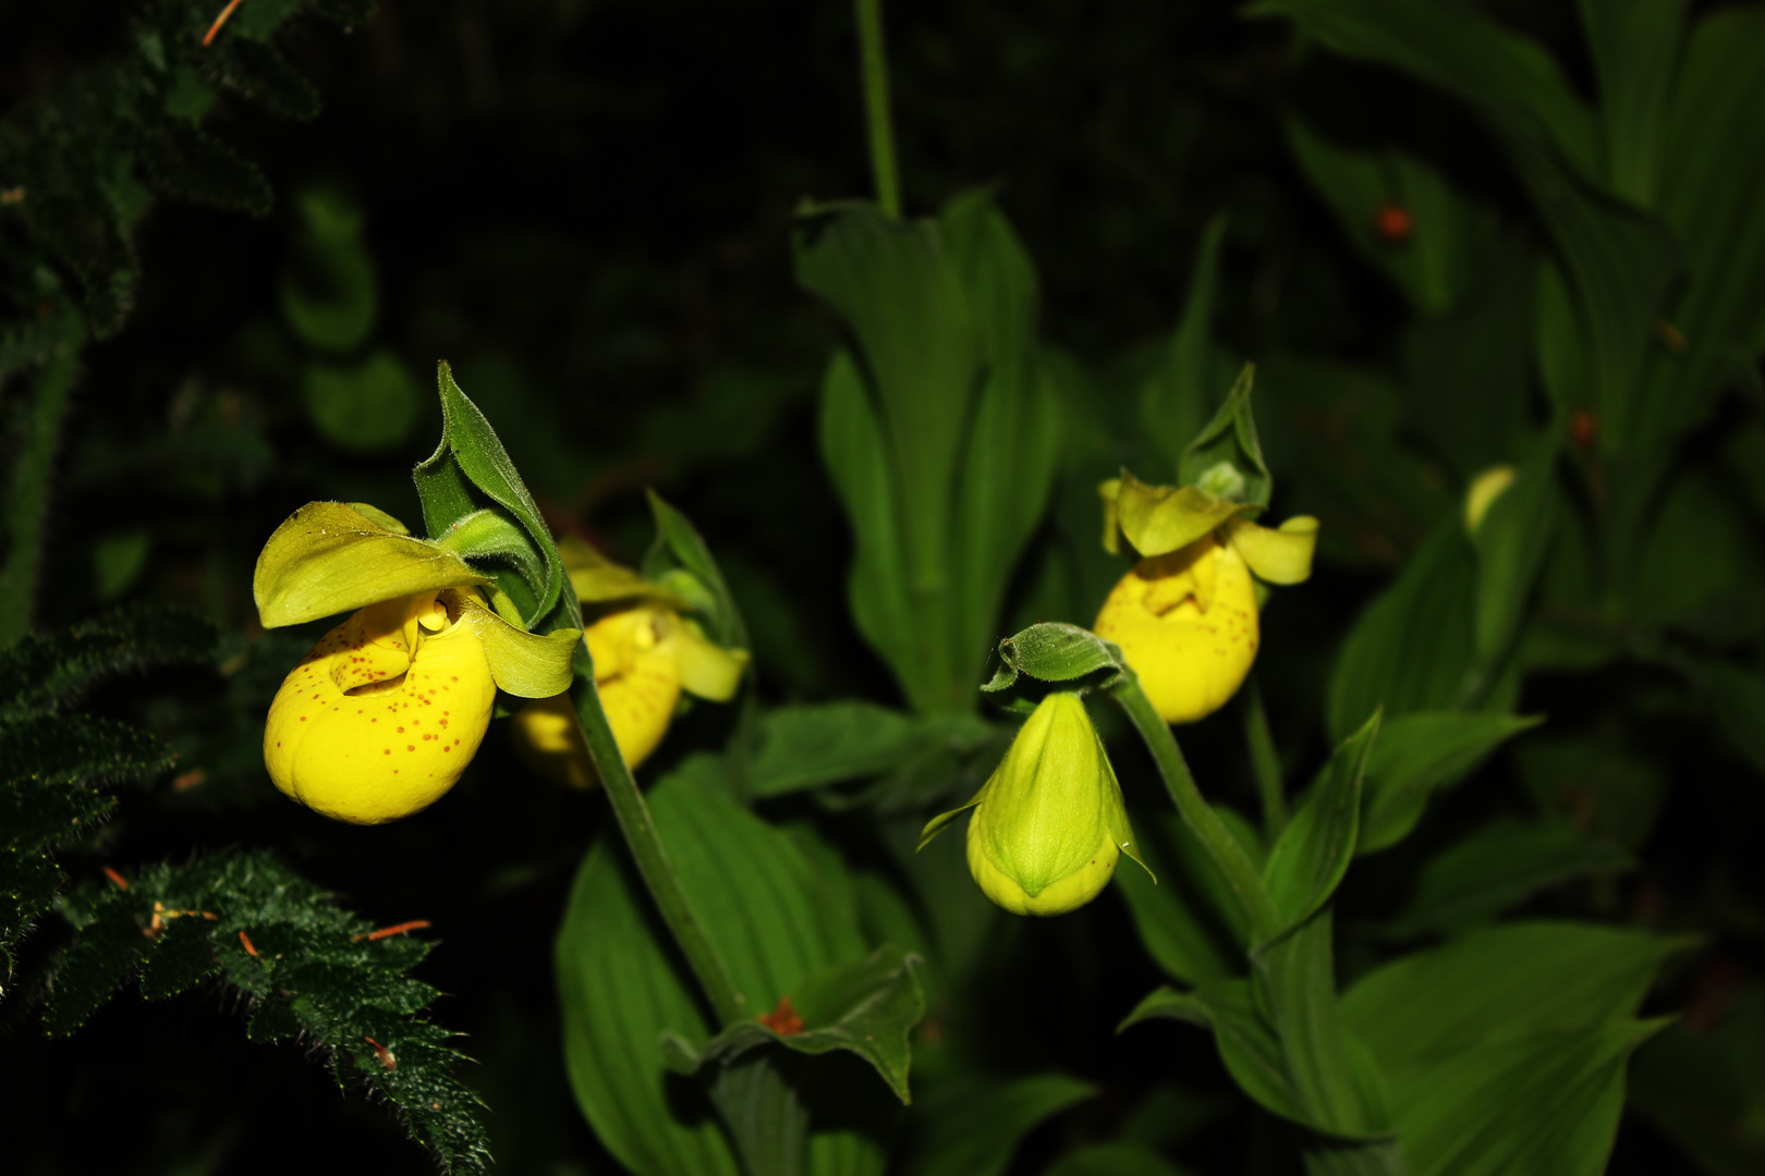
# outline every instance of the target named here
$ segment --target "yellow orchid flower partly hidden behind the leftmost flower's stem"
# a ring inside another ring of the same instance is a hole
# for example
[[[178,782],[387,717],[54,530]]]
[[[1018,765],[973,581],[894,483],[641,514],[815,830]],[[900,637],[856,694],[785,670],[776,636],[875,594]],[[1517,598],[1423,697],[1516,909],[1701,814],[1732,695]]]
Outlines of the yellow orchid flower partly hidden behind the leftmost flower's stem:
[[[745,649],[724,649],[681,617],[690,605],[628,568],[609,562],[579,540],[558,545],[565,571],[584,608],[618,601],[588,626],[595,688],[607,725],[628,767],[637,767],[662,742],[681,691],[729,702],[747,668]],[[538,698],[515,714],[515,751],[535,772],[575,788],[598,783],[588,742],[568,695]]]

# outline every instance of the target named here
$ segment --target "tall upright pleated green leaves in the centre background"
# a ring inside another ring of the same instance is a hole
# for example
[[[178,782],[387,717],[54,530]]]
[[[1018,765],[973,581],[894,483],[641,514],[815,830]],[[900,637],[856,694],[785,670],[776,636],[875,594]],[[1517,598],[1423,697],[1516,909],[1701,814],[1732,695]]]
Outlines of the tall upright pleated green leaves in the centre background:
[[[985,192],[935,222],[840,206],[796,256],[856,342],[821,421],[858,540],[852,615],[914,711],[973,711],[1061,450],[1029,256]]]

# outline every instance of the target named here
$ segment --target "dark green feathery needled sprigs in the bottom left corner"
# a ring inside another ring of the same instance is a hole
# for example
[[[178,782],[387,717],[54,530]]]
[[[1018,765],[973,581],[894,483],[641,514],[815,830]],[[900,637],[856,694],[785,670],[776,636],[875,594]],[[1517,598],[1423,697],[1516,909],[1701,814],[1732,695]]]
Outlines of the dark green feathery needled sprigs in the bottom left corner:
[[[56,903],[76,934],[53,963],[49,1033],[76,1031],[136,975],[150,1000],[222,975],[251,996],[252,1040],[302,1037],[319,1046],[339,1084],[360,1081],[387,1097],[447,1171],[484,1171],[478,1098],[452,1077],[462,1056],[447,1044],[452,1033],[418,1016],[436,991],[406,975],[427,943],[408,934],[371,940],[372,924],[332,906],[318,885],[261,852],[159,864],[64,892],[55,855],[74,850],[113,811],[109,790],[173,763],[159,737],[67,709],[104,679],[212,663],[214,649],[214,628],[191,612],[134,607],[28,635],[0,656],[5,991],[14,987],[16,945]]]

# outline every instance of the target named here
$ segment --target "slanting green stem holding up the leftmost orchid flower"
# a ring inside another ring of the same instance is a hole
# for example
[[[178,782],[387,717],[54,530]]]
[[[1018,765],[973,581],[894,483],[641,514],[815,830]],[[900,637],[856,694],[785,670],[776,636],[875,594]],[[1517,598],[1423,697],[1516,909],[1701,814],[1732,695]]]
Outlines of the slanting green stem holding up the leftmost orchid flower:
[[[612,815],[620,822],[620,832],[625,834],[625,845],[632,850],[632,860],[637,862],[637,873],[642,875],[644,885],[650,889],[650,897],[655,899],[657,910],[662,913],[662,922],[674,933],[674,942],[687,957],[694,977],[697,977],[699,987],[704,989],[706,998],[711,1001],[718,1024],[727,1026],[741,1021],[748,1016],[747,998],[743,998],[734,980],[729,979],[729,968],[724,966],[722,956],[717,954],[717,947],[704,933],[704,924],[699,922],[692,903],[687,899],[687,892],[680,885],[680,875],[674,873],[674,866],[667,860],[667,850],[662,848],[662,837],[657,836],[650,806],[644,804],[644,793],[637,790],[632,769],[625,765],[620,744],[607,725],[607,712],[600,707],[600,691],[595,689],[595,666],[588,658],[586,642],[577,647],[577,682],[574,693],[575,716],[582,723],[582,735],[588,739],[588,755],[595,762],[600,783],[607,788],[607,799],[612,800]]]

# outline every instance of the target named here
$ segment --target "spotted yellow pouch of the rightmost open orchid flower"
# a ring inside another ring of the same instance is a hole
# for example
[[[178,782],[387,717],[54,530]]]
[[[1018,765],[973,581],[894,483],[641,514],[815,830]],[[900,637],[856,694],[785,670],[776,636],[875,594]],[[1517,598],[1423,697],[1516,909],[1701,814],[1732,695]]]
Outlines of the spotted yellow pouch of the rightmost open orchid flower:
[[[1193,723],[1225,705],[1257,659],[1257,589],[1237,548],[1209,534],[1142,559],[1091,628],[1121,645],[1167,723]]]

